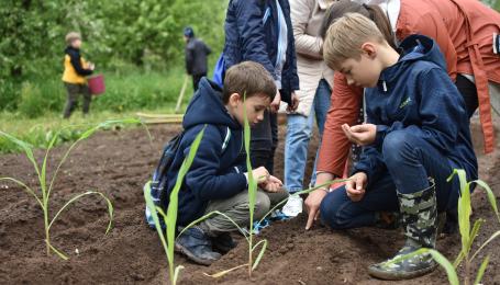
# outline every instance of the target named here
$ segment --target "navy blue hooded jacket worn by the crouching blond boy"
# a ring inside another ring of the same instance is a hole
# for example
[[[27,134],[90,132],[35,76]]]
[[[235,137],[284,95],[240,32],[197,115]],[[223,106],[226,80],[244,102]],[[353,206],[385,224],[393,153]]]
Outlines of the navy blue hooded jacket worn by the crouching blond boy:
[[[353,172],[377,180],[387,170],[381,155],[385,136],[407,129],[440,150],[453,168],[464,169],[468,180],[477,179],[465,103],[446,73],[438,46],[426,36],[411,35],[400,49],[398,62],[381,72],[376,88],[366,89],[367,122],[377,125],[377,137]]]

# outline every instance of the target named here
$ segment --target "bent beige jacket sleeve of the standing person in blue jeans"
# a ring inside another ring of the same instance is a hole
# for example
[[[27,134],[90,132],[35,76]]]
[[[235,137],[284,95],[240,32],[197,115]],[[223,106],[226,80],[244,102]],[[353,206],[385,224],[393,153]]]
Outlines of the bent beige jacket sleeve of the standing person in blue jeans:
[[[309,24],[309,16],[311,15],[315,3],[316,1],[314,0],[290,1],[290,15],[293,25],[297,54],[314,59],[323,59],[323,56],[321,55],[323,41],[319,36],[308,35],[305,33]]]

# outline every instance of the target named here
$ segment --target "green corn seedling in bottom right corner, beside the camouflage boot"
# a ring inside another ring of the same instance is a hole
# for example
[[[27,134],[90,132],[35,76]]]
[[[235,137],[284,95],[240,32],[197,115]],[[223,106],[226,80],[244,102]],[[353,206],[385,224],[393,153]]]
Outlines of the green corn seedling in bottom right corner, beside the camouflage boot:
[[[493,192],[491,189],[481,180],[475,180],[467,182],[467,175],[464,170],[455,169],[448,178],[448,182],[455,176],[458,175],[458,180],[460,183],[460,196],[458,198],[458,228],[460,232],[460,238],[462,238],[462,249],[460,252],[458,253],[458,256],[456,258],[455,262],[452,264],[451,261],[448,261],[443,254],[441,254],[438,251],[433,250],[433,249],[420,249],[415,252],[412,252],[410,254],[402,255],[398,259],[392,260],[390,263],[396,263],[401,260],[410,259],[412,256],[415,256],[418,254],[422,253],[430,253],[433,259],[445,269],[446,274],[448,276],[448,282],[452,285],[458,285],[458,274],[456,272],[456,269],[460,263],[465,263],[465,276],[464,276],[464,284],[469,285],[470,284],[470,278],[471,278],[471,273],[473,273],[473,261],[474,259],[478,255],[479,252],[485,249],[486,246],[488,246],[491,241],[493,241],[496,238],[500,236],[500,230],[496,231],[493,235],[491,235],[474,253],[471,251],[474,241],[476,237],[478,236],[479,229],[481,225],[485,223],[484,219],[477,219],[474,223],[473,228],[470,228],[470,215],[471,215],[471,206],[470,206],[470,186],[473,184],[479,185],[482,190],[485,190],[488,201],[491,205],[491,208],[495,212],[495,215],[497,217],[497,220],[499,221],[500,225],[500,215],[498,212],[498,206],[497,206],[497,201],[495,197]],[[474,284],[480,284],[482,276],[485,274],[486,267],[488,266],[489,263],[489,255],[487,255],[481,264],[479,265],[479,269],[477,271],[476,278],[474,281]]]

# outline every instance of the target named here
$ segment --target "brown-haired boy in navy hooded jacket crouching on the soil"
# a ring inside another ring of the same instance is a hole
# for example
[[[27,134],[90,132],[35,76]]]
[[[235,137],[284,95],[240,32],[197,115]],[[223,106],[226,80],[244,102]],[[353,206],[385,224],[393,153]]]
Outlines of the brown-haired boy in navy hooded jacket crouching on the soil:
[[[225,214],[241,227],[248,226],[248,171],[258,179],[260,189],[256,195],[255,219],[263,218],[273,205],[288,196],[281,191],[281,181],[264,167],[247,170],[241,156],[245,112],[251,125],[259,123],[275,94],[270,73],[257,62],[245,61],[231,67],[223,90],[207,78],[201,79],[186,111],[184,135],[166,178],[166,196],[169,196],[185,156],[204,128],[179,192],[178,227],[186,227],[213,210]],[[213,216],[180,235],[176,249],[190,260],[209,265],[221,258],[219,252],[225,253],[234,247],[230,232],[235,230],[237,228],[225,217]]]

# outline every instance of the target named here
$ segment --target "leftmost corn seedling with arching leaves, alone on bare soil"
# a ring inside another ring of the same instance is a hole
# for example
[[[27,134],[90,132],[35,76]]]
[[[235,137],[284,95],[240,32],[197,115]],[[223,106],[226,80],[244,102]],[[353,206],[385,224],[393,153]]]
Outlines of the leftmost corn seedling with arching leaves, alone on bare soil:
[[[51,227],[54,225],[54,223],[59,217],[59,215],[69,205],[71,205],[73,203],[77,202],[78,200],[80,200],[84,196],[98,195],[98,196],[102,197],[107,202],[108,214],[110,216],[110,221],[108,224],[108,228],[105,230],[105,233],[108,233],[110,231],[111,226],[112,226],[112,220],[113,220],[113,205],[111,204],[111,201],[104,194],[102,194],[102,193],[100,193],[98,191],[87,191],[85,193],[81,193],[81,194],[78,194],[78,195],[74,196],[68,202],[66,202],[66,204],[64,204],[64,206],[53,217],[51,217],[51,215],[49,215],[49,202],[51,202],[51,194],[52,194],[52,191],[53,191],[53,187],[54,187],[54,182],[55,182],[55,180],[57,178],[57,174],[59,173],[60,168],[63,167],[64,162],[68,158],[68,156],[71,152],[71,150],[80,141],[87,139],[92,134],[95,134],[97,130],[105,128],[105,127],[109,127],[111,125],[123,124],[123,123],[136,124],[136,123],[142,123],[142,122],[138,121],[138,119],[132,119],[132,118],[130,118],[130,119],[120,119],[120,121],[107,121],[107,122],[103,122],[103,123],[101,123],[101,124],[99,124],[99,125],[97,125],[95,127],[91,127],[91,128],[87,129],[86,132],[84,132],[79,136],[79,138],[75,142],[73,142],[70,145],[68,150],[66,150],[66,152],[64,153],[63,158],[60,159],[59,163],[57,164],[57,168],[55,169],[54,174],[52,175],[52,179],[49,181],[48,181],[47,173],[46,173],[46,171],[47,171],[47,161],[48,161],[48,158],[49,158],[51,150],[54,147],[57,138],[59,137],[59,135],[56,134],[56,135],[54,135],[52,137],[52,139],[48,142],[47,149],[45,151],[45,156],[43,158],[42,164],[38,164],[38,162],[36,161],[35,157],[33,155],[33,146],[32,145],[30,145],[30,144],[27,144],[27,142],[25,142],[25,141],[23,141],[23,140],[14,137],[12,135],[10,135],[10,134],[7,134],[7,133],[0,130],[0,136],[4,137],[9,141],[14,144],[18,148],[20,148],[24,152],[24,155],[30,160],[30,162],[32,163],[32,166],[33,166],[33,168],[34,168],[34,170],[36,172],[36,175],[37,175],[37,179],[38,179],[38,183],[40,183],[40,193],[38,194],[35,192],[35,190],[33,187],[27,186],[26,183],[24,183],[24,182],[22,182],[22,181],[20,181],[18,179],[3,176],[3,178],[0,178],[0,181],[10,181],[10,182],[13,182],[13,183],[20,185],[29,195],[31,195],[31,196],[33,196],[35,198],[36,203],[42,208],[43,216],[44,216],[45,244],[46,244],[47,255],[49,255],[51,251],[53,251],[53,252],[57,253],[57,255],[60,256],[62,259],[64,259],[64,260],[68,259],[68,256],[66,254],[64,254],[62,251],[56,249],[51,243]]]

